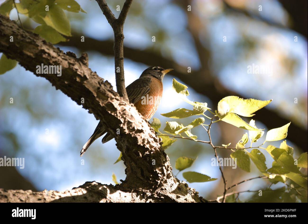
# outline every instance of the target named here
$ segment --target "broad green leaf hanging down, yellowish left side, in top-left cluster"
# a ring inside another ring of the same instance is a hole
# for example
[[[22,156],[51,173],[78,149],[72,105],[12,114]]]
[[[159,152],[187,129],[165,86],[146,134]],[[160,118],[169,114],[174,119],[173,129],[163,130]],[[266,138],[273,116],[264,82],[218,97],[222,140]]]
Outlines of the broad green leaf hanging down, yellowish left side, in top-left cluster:
[[[68,21],[63,9],[57,5],[52,5],[49,7],[49,11],[43,18],[44,22],[58,31],[60,34],[71,36],[71,25]]]

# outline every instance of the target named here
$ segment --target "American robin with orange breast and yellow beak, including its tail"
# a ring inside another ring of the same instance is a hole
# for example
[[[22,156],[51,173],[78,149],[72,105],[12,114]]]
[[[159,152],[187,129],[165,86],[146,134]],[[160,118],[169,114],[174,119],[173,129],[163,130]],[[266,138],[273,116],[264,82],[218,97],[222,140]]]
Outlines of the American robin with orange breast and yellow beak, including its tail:
[[[126,87],[129,103],[135,105],[138,112],[140,112],[145,120],[150,120],[156,112],[163,95],[162,80],[164,75],[172,70],[172,68],[163,69],[158,66],[149,67],[142,72],[139,79],[136,79],[128,87]],[[83,145],[80,151],[80,156],[86,152],[93,141],[105,133],[107,134],[103,137],[102,143],[110,141],[113,139],[113,136],[110,135],[110,133],[108,133],[103,127],[103,124],[99,122],[92,136],[86,144]]]

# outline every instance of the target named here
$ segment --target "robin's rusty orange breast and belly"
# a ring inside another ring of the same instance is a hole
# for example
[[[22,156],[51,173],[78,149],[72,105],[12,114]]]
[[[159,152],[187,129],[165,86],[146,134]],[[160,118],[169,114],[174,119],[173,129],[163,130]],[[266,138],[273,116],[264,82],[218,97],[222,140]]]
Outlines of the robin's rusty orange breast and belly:
[[[156,112],[163,96],[163,83],[161,80],[151,77],[150,92],[143,96],[135,107],[145,120],[150,120]]]

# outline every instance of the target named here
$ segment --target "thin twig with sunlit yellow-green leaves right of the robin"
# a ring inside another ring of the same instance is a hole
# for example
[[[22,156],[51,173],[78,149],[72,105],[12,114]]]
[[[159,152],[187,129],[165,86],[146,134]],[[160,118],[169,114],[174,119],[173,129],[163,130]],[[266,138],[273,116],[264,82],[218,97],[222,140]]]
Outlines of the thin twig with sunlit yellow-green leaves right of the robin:
[[[193,110],[186,108],[178,108],[176,110],[161,115],[176,119],[186,118],[194,115],[201,115],[203,117],[199,117],[193,120],[187,126],[179,124],[175,121],[170,121],[170,122],[167,121],[166,127],[164,128],[164,132],[168,134],[160,132],[159,128],[161,124],[160,120],[158,120],[157,118],[153,118],[151,126],[157,133],[159,133],[158,136],[162,138],[164,149],[167,149],[178,138],[201,142],[212,146],[215,153],[215,158],[219,165],[221,177],[224,182],[224,192],[222,193],[222,196],[218,197],[217,200],[215,201],[220,202],[220,200],[222,200],[221,202],[226,202],[226,197],[233,194],[237,194],[238,198],[238,195],[241,192],[227,193],[227,191],[232,189],[233,187],[236,187],[237,185],[240,185],[241,183],[259,178],[266,178],[272,184],[276,184],[278,182],[286,184],[285,182],[287,180],[290,180],[292,184],[296,185],[297,187],[301,189],[307,189],[307,181],[305,179],[305,176],[302,172],[300,172],[300,169],[302,167],[307,167],[307,153],[302,153],[302,155],[298,159],[294,159],[293,148],[288,146],[286,144],[286,141],[283,141],[279,148],[276,148],[273,145],[269,145],[266,148],[261,147],[262,145],[265,144],[265,142],[279,141],[286,138],[290,123],[280,128],[274,128],[269,130],[266,134],[265,141],[261,145],[253,147],[253,143],[256,143],[258,139],[260,139],[263,136],[264,131],[263,129],[259,129],[256,127],[254,120],[250,120],[248,124],[240,117],[240,116],[246,116],[246,117],[253,116],[254,112],[265,107],[272,100],[264,100],[264,101],[255,99],[244,100],[240,99],[237,96],[227,96],[218,103],[217,110],[213,112],[211,111],[210,108],[207,107],[206,103],[192,102],[188,100],[187,96],[189,96],[189,93],[187,90],[187,86],[185,86],[184,84],[179,83],[175,79],[173,79],[172,87],[178,93],[179,97],[182,100],[184,100],[188,104],[193,105]],[[205,112],[207,111],[210,112],[213,116],[211,117],[210,115],[206,115]],[[204,124],[205,119],[209,119],[209,124]],[[212,141],[210,130],[212,125],[219,121],[224,121],[238,128],[246,129],[248,130],[249,134],[245,133],[242,136],[241,140],[238,141],[236,146],[233,148],[228,147],[231,143],[222,146],[215,146]],[[199,125],[201,125],[207,132],[209,141],[198,140],[197,136],[191,133],[191,129]],[[183,137],[181,133],[185,133],[188,137]],[[251,142],[250,146],[245,147],[245,145],[248,143],[249,140]],[[227,179],[222,169],[222,167],[225,166],[226,164],[222,164],[224,162],[224,158],[218,157],[216,151],[217,149],[231,150],[232,153],[230,154],[230,157],[233,159],[233,161],[236,163],[238,167],[240,167],[242,170],[246,172],[250,172],[250,160],[253,161],[257,169],[259,169],[259,171],[263,175],[249,178],[227,187]],[[249,152],[248,149],[252,150]],[[272,168],[267,169],[267,166],[265,164],[265,156],[259,149],[265,150],[274,159]],[[196,159],[188,157],[180,157],[176,160],[175,168],[178,169],[180,172],[190,167],[195,160]],[[294,163],[292,161],[294,161]],[[211,178],[205,174],[191,172],[191,171],[184,172],[183,177],[190,183],[217,180],[217,178]],[[245,191],[245,192],[252,192],[252,191]],[[300,195],[301,195],[300,192],[297,193],[297,196]]]

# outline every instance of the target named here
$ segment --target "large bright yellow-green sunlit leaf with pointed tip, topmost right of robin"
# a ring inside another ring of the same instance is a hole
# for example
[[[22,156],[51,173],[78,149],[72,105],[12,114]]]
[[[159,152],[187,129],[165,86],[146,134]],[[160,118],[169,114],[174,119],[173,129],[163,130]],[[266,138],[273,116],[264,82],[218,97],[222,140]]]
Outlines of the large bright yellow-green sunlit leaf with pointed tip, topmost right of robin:
[[[255,100],[255,99],[242,99],[238,96],[227,96],[219,101],[218,105],[224,101],[229,105],[229,112],[236,113],[241,116],[251,117],[254,112],[260,110],[269,104],[272,100]]]

